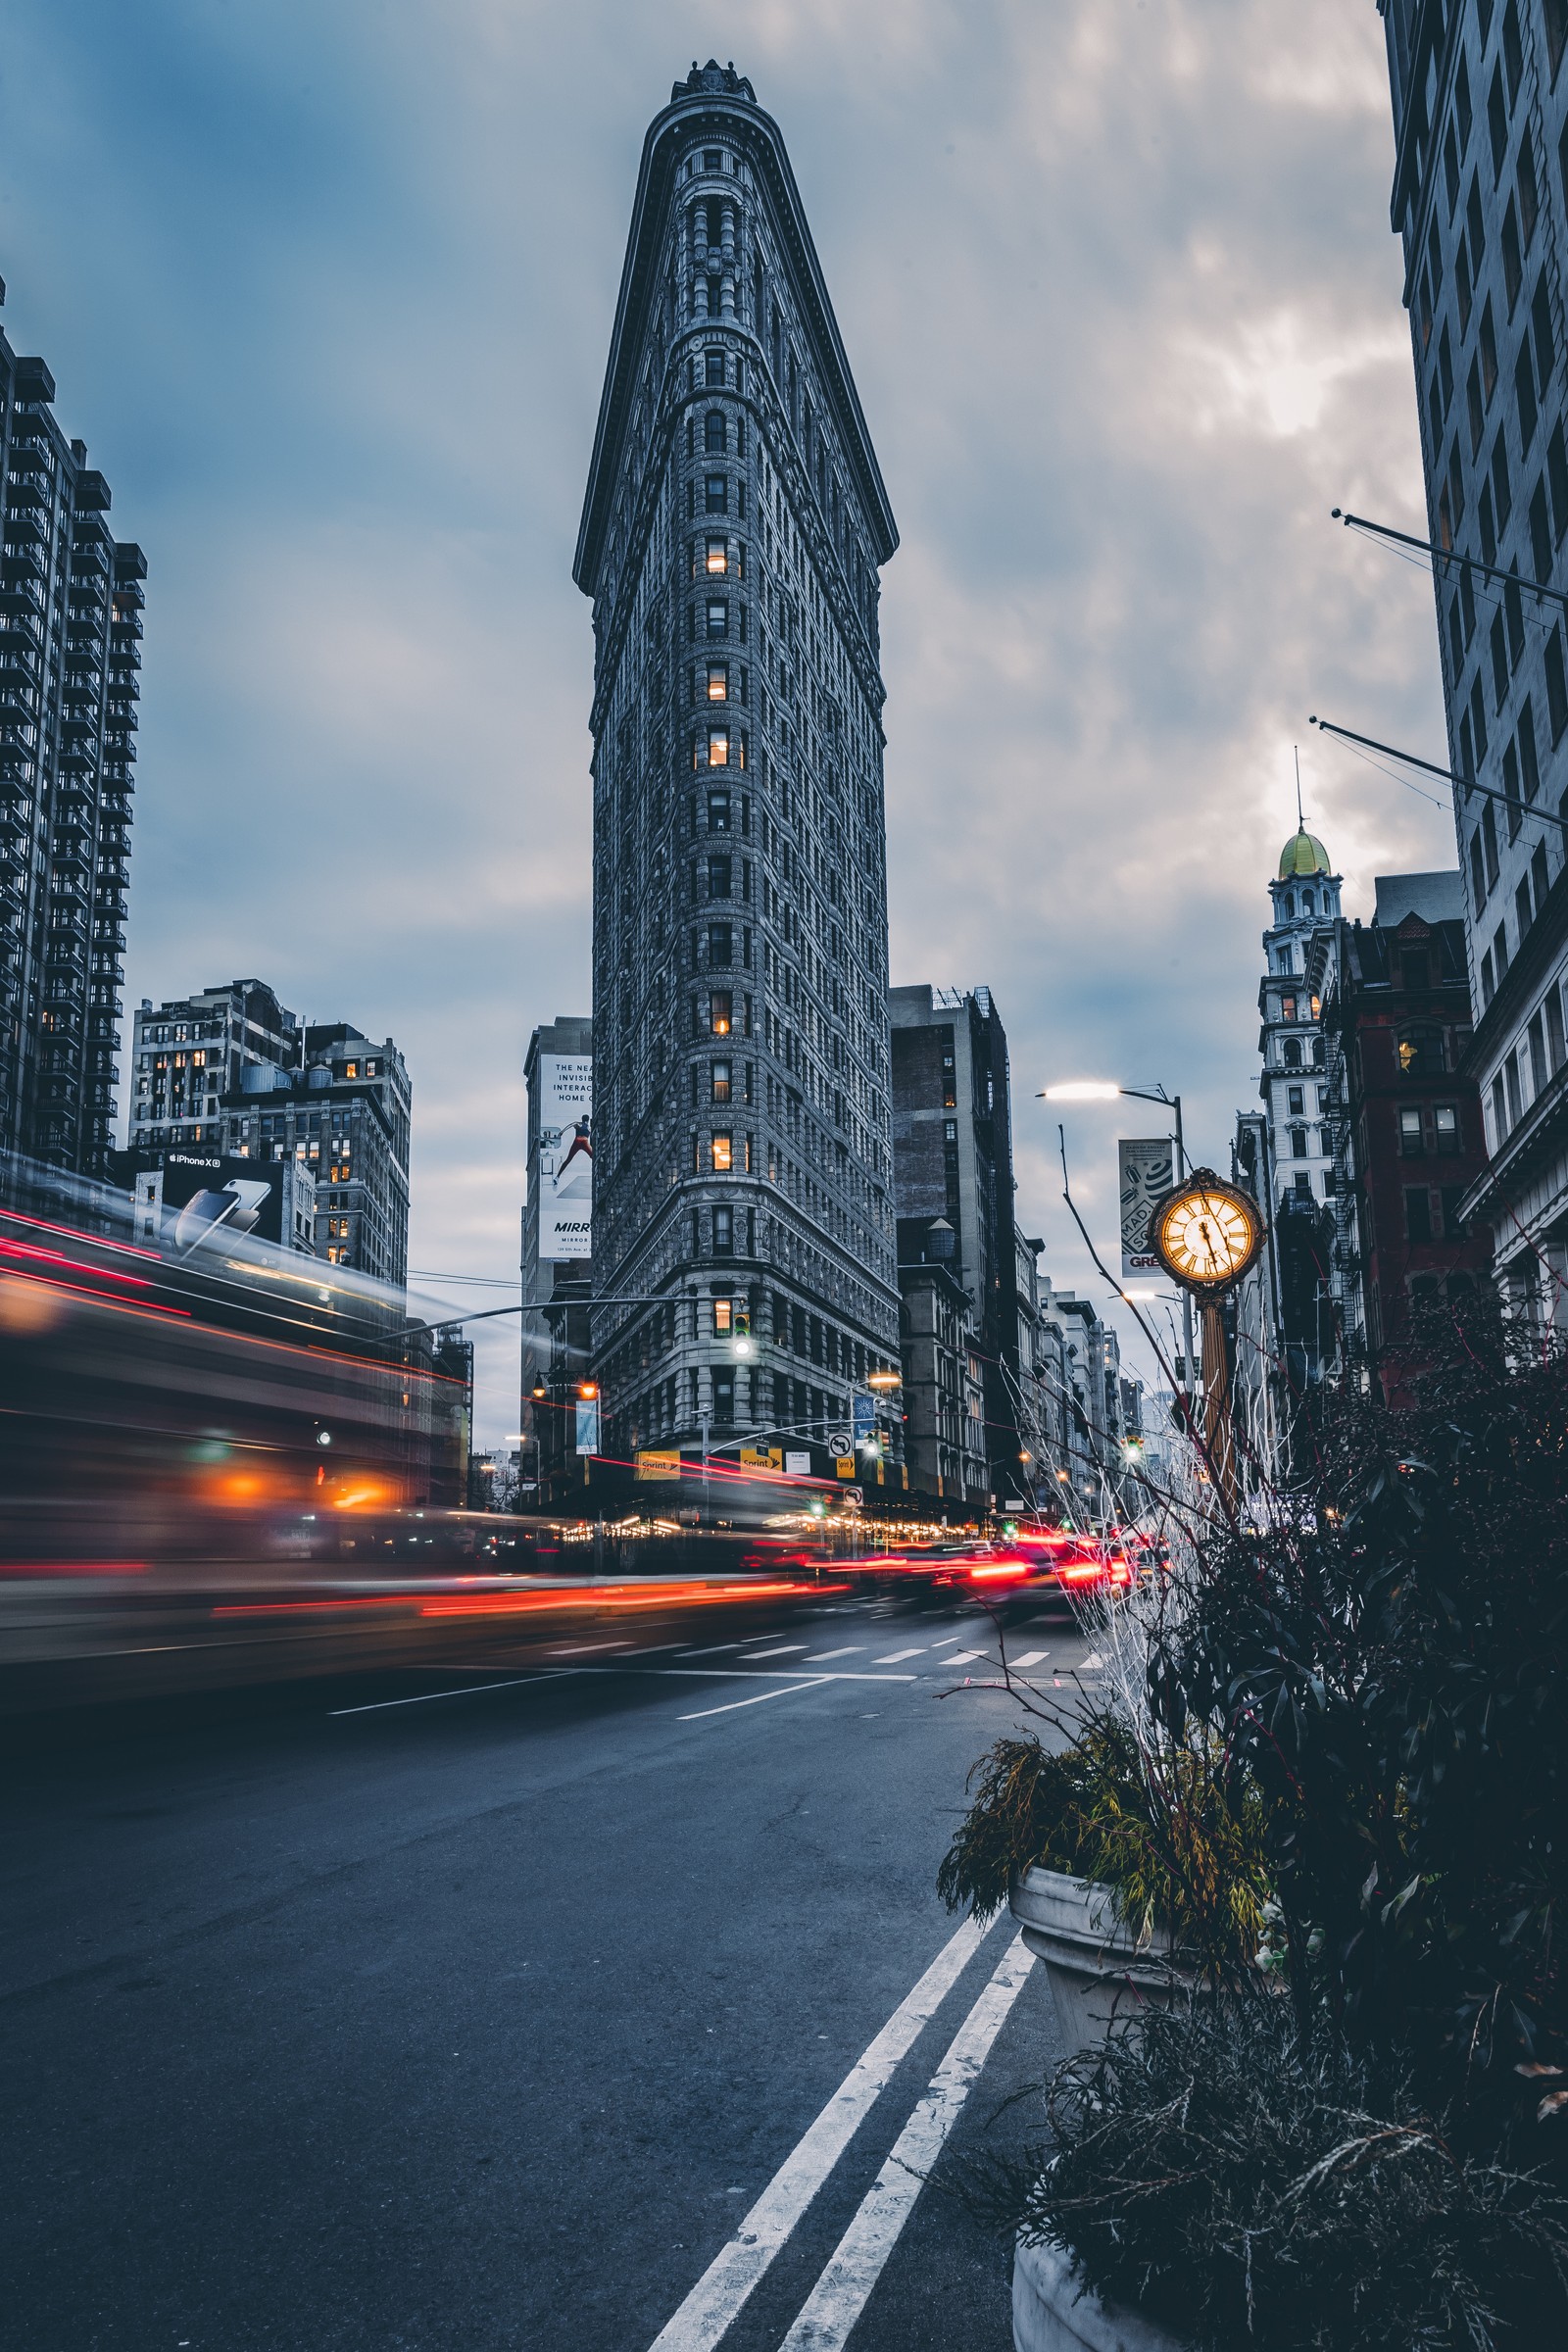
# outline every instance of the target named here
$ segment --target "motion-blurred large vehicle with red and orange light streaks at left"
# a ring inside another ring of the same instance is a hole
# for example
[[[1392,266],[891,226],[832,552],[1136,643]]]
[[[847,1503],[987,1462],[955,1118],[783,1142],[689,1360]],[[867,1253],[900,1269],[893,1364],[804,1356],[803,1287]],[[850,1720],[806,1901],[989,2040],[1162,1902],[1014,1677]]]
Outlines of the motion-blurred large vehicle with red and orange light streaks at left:
[[[0,1705],[849,1590],[797,1531],[463,1510],[435,1303],[230,1216],[193,1237],[106,1185],[0,1178]]]

